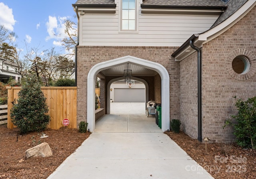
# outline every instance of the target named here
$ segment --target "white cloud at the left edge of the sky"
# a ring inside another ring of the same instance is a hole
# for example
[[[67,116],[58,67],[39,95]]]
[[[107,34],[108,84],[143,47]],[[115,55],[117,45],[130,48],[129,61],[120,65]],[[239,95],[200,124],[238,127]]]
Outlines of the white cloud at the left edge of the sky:
[[[12,9],[6,6],[3,2],[0,2],[0,25],[10,31],[13,31],[15,22],[16,20],[14,20]]]

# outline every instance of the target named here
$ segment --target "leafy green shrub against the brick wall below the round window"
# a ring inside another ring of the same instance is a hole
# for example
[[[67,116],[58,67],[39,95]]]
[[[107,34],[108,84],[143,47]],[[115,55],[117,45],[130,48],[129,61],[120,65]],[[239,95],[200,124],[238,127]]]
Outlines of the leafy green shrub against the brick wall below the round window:
[[[242,147],[254,149],[254,143],[256,143],[256,97],[248,98],[247,101],[238,99],[236,107],[238,113],[231,115],[231,119],[235,119],[236,123],[232,123],[231,119],[228,119],[223,128],[226,125],[234,126],[236,143]]]

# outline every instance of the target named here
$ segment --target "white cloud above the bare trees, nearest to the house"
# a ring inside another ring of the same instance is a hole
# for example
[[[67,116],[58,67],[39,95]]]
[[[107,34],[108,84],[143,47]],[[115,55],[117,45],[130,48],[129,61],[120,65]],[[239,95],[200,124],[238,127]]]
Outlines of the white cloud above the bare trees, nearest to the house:
[[[67,17],[58,17],[58,19],[54,16],[49,16],[48,22],[46,22],[46,27],[47,27],[47,32],[48,36],[46,37],[46,41],[50,39],[55,39],[55,40],[61,40],[65,35],[65,20]],[[59,43],[54,42],[56,45]]]

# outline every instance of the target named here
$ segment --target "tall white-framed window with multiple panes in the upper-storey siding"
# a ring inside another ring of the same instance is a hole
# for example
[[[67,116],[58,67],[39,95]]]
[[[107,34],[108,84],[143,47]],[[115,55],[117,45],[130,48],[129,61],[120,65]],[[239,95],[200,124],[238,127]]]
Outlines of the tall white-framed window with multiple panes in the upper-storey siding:
[[[122,0],[121,30],[136,30],[136,0]]]

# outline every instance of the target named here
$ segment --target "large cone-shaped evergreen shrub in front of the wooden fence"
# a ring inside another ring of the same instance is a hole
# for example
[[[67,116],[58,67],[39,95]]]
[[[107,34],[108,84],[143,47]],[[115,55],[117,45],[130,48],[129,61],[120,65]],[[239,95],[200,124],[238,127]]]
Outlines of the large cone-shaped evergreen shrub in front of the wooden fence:
[[[40,83],[36,76],[28,76],[18,93],[18,103],[11,109],[11,118],[21,133],[30,131],[42,131],[50,122],[50,116],[46,115],[48,106],[46,97],[41,91]]]

